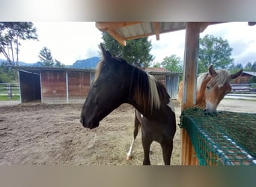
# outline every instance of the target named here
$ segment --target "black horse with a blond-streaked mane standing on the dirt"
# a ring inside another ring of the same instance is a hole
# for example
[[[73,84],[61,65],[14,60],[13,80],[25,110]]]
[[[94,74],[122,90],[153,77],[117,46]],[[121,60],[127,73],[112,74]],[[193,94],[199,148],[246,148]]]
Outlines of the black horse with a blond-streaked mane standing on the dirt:
[[[150,165],[150,144],[153,141],[161,144],[164,163],[170,165],[176,120],[174,105],[166,89],[153,76],[121,58],[112,57],[102,43],[100,49],[103,59],[97,64],[94,82],[82,108],[82,125],[94,129],[119,105],[129,103],[136,108],[132,144],[141,126],[143,165]],[[131,152],[132,145],[128,157]]]

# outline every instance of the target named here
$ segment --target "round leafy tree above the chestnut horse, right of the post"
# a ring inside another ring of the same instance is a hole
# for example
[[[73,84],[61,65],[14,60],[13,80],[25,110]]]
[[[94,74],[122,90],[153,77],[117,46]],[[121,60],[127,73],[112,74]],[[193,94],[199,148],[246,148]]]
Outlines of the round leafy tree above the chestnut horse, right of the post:
[[[198,73],[207,72],[208,67],[213,64],[216,69],[225,69],[234,61],[231,58],[232,48],[228,40],[222,37],[213,37],[207,34],[199,39],[198,50]]]

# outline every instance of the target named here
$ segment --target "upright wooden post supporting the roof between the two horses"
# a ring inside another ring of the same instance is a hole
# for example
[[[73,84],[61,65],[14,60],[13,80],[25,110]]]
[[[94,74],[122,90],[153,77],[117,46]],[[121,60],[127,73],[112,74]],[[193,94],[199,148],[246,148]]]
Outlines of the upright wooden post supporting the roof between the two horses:
[[[196,76],[198,72],[198,45],[200,22],[187,22],[183,73],[183,104],[181,110],[192,107],[196,101]],[[198,165],[194,147],[185,129],[181,129],[181,165]]]

